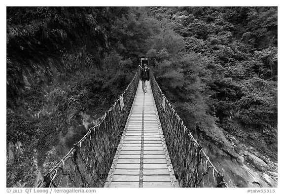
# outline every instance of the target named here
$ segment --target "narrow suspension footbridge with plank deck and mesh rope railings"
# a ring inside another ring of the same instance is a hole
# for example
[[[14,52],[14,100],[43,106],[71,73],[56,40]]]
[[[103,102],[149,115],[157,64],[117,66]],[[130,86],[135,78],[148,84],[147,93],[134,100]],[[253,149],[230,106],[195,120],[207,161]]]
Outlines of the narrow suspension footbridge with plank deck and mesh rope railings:
[[[97,125],[37,187],[227,187],[168,102],[140,68]]]

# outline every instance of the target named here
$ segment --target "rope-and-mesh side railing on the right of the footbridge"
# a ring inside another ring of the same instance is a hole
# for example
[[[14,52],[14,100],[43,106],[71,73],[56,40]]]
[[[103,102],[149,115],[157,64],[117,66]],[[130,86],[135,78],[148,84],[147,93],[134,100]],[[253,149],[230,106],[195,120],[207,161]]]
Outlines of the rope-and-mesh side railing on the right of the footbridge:
[[[175,112],[153,73],[150,82],[179,187],[228,187]]]

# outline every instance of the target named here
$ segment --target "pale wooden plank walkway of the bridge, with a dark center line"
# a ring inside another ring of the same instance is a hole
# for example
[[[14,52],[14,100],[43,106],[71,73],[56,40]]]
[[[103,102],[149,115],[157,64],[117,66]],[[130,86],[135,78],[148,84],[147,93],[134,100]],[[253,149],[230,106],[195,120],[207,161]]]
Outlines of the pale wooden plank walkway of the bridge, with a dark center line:
[[[178,187],[150,83],[139,82],[105,187]]]

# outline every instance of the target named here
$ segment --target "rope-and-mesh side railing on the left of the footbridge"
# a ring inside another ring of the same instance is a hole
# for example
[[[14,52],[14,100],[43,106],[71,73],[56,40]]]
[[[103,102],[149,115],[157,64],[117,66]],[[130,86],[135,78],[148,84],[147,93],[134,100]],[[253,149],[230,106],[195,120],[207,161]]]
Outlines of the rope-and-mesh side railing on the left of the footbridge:
[[[139,83],[138,68],[101,122],[89,129],[37,187],[104,187]]]

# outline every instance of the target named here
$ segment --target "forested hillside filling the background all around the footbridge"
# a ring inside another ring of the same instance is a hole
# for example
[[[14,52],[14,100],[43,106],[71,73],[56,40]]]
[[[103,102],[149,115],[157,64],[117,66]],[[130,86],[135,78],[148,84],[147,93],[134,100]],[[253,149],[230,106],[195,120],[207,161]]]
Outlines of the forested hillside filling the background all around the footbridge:
[[[277,23],[277,7],[7,7],[7,187],[34,187],[142,56],[231,186],[250,186],[248,153],[277,177]]]

